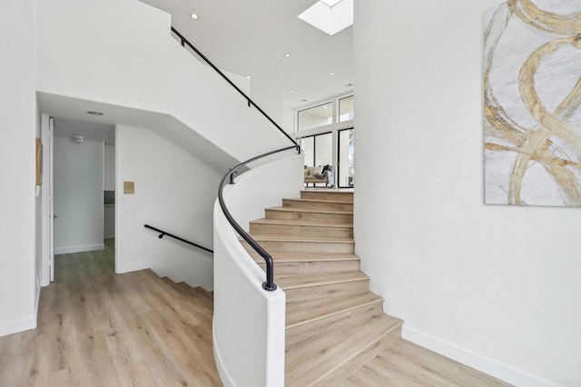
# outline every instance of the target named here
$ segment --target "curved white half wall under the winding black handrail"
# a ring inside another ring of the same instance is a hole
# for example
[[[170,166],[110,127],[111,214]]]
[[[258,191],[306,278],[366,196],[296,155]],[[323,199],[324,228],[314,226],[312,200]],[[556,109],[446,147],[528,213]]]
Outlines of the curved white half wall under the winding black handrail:
[[[264,208],[298,197],[302,154],[262,164],[226,186],[224,200],[243,227]],[[276,267],[275,267],[276,270]],[[225,385],[284,384],[285,294],[262,289],[265,273],[254,263],[214,205],[214,320],[216,364]]]

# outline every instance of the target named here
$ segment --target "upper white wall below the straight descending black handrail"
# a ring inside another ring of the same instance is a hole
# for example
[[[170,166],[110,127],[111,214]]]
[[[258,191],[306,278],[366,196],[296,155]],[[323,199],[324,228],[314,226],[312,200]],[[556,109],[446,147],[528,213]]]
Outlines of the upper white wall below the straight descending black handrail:
[[[215,144],[245,160],[289,144],[172,38],[170,15],[136,0],[54,0],[38,7],[43,94],[170,114],[201,135],[200,154]],[[163,136],[173,130],[153,128]]]

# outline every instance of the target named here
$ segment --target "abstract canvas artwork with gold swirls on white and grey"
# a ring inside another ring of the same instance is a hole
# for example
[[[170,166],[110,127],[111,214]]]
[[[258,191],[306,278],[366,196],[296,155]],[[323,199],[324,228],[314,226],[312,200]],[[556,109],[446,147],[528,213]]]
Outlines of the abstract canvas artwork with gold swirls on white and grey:
[[[488,204],[581,206],[581,1],[485,15]]]

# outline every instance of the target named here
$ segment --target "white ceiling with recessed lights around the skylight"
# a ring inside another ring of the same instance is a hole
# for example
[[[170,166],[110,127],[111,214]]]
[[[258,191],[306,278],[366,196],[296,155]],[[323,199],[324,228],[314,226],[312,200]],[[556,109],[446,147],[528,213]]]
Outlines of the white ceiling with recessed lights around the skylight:
[[[330,36],[301,21],[315,0],[141,1],[171,14],[172,25],[214,65],[250,75],[259,103],[294,108],[353,90],[353,27]]]

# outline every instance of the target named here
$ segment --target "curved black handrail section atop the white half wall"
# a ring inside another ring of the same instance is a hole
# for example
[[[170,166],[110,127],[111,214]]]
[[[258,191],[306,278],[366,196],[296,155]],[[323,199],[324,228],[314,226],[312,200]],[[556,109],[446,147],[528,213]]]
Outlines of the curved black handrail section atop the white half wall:
[[[274,283],[274,262],[272,261],[271,254],[267,253],[266,250],[264,250],[260,244],[254,241],[254,239],[252,239],[252,237],[248,233],[246,233],[244,229],[242,229],[241,225],[234,220],[230,211],[228,211],[226,203],[224,202],[223,189],[226,184],[234,184],[233,175],[242,166],[250,164],[256,160],[260,160],[263,157],[270,156],[271,154],[278,154],[280,152],[288,151],[291,149],[297,149],[300,152],[300,147],[298,144],[291,145],[285,148],[278,149],[276,151],[271,151],[267,154],[261,154],[260,156],[252,157],[251,159],[236,165],[230,170],[230,172],[228,172],[228,174],[224,174],[224,176],[222,177],[222,181],[220,182],[220,188],[218,189],[218,201],[220,202],[222,213],[224,213],[224,216],[226,216],[228,223],[231,224],[232,228],[236,230],[236,232],[244,239],[244,241],[251,245],[252,249],[254,249],[256,253],[259,253],[261,255],[262,259],[264,259],[264,263],[266,263],[266,281],[262,283],[262,289],[269,292],[274,292],[277,289],[276,283]]]

